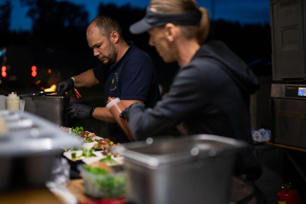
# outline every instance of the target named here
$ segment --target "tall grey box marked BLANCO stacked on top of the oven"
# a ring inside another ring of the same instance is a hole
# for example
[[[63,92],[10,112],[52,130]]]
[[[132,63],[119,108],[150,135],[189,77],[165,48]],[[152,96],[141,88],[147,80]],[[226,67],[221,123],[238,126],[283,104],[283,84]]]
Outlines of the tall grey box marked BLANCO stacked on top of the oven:
[[[273,80],[305,80],[306,4],[270,0]]]

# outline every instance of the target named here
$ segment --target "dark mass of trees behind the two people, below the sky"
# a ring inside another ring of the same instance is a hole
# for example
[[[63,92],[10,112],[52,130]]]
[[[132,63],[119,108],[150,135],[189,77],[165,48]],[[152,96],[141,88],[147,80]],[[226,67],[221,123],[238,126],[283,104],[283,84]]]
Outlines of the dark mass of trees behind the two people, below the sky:
[[[87,44],[85,29],[89,21],[84,6],[56,0],[20,1],[28,8],[27,16],[32,19],[32,31],[28,33],[7,31],[9,33],[6,35],[0,33],[0,37],[5,39],[0,41],[0,47],[8,48],[6,63],[11,65],[12,70],[27,75],[27,69],[30,70],[30,66],[35,64],[39,70],[38,77],[43,78],[46,70],[50,68],[54,70],[52,72],[54,80],[59,80],[93,68],[99,63]],[[9,6],[0,6],[0,20],[4,22],[1,26],[7,29],[11,6],[9,1],[4,5]],[[121,25],[124,39],[132,40],[136,46],[153,58],[159,83],[164,85],[164,91],[167,91],[178,69],[177,64],[166,64],[162,61],[155,48],[148,45],[147,33],[132,35],[129,32],[129,26],[140,20],[145,10],[129,4],[116,6],[103,3],[100,3],[97,9],[98,15],[114,17]],[[260,63],[252,64],[259,75],[270,74],[271,65],[267,65],[267,62],[271,61],[269,25],[241,25],[217,20],[214,26],[215,39],[224,41],[247,63],[259,61]],[[47,78],[47,81],[54,80]]]

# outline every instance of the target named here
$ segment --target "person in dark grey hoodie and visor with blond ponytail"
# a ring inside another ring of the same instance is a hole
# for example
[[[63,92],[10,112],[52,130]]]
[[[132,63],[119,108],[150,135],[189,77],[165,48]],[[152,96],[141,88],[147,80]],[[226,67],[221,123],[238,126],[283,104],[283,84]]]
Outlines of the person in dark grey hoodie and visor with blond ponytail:
[[[154,108],[135,103],[121,114],[136,139],[163,135],[183,124],[187,134],[220,135],[252,144],[249,98],[258,81],[224,43],[204,43],[209,33],[206,9],[193,0],[151,0],[145,17],[130,31],[147,31],[149,44],[162,59],[180,66],[170,91]],[[231,200],[256,203],[253,181],[261,168],[253,149],[239,155],[234,173]]]

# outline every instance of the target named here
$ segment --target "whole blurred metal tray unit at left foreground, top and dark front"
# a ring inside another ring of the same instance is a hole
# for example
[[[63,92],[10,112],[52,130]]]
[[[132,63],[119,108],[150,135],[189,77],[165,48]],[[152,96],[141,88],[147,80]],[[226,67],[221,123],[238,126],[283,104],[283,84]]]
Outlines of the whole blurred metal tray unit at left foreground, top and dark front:
[[[60,147],[81,144],[59,130],[57,125],[33,114],[0,111],[0,117],[5,124],[11,124],[7,126],[7,132],[0,134],[0,162],[3,170],[0,190],[45,185],[50,179],[55,158],[62,155]],[[28,121],[27,125],[20,126],[20,120]]]

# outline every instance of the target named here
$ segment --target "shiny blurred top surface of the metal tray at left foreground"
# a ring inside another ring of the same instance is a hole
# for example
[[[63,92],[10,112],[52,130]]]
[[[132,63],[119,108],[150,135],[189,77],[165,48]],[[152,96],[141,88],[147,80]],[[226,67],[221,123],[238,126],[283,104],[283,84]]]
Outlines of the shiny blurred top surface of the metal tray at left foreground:
[[[27,112],[0,111],[6,132],[0,133],[0,158],[60,152],[80,141],[58,129],[54,123]]]

